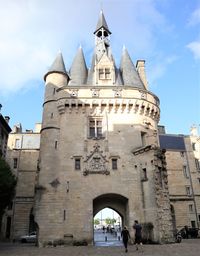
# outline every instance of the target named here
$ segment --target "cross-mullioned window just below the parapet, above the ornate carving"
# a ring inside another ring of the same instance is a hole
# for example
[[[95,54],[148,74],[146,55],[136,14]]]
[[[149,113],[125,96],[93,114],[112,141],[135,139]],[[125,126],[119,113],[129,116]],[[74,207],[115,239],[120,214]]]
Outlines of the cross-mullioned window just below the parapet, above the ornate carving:
[[[102,138],[102,119],[100,118],[89,119],[89,137]]]

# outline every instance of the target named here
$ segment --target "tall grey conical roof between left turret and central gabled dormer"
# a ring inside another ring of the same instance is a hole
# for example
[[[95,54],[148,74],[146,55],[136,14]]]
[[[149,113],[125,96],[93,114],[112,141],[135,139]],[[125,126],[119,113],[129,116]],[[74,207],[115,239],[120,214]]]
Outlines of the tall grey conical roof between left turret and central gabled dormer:
[[[70,69],[70,85],[82,85],[86,83],[87,66],[82,47],[79,47]]]

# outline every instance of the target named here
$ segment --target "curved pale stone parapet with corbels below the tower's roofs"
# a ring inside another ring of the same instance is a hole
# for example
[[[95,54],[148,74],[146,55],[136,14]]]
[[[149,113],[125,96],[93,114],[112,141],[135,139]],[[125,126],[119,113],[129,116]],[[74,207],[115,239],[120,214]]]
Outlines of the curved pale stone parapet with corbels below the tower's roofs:
[[[58,112],[103,114],[130,113],[159,121],[158,98],[150,92],[124,88],[64,88],[59,90],[56,105]]]

